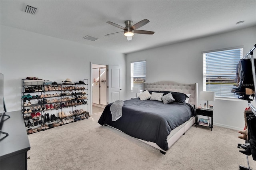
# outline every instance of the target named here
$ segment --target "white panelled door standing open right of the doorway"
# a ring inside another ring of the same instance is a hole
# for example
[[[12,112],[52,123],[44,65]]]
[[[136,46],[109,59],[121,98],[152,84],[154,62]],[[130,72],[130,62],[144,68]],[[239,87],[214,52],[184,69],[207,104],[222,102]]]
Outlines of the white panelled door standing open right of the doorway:
[[[108,103],[120,100],[121,69],[118,66],[108,65]]]

